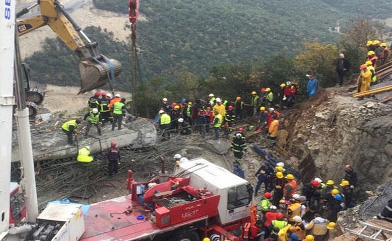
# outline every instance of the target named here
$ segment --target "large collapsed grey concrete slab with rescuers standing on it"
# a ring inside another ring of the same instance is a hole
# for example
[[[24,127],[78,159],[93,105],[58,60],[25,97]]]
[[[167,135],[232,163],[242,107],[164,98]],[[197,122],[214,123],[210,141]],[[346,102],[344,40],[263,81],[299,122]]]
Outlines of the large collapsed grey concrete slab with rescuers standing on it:
[[[81,130],[76,138],[75,146],[66,143],[66,135],[61,130],[65,120],[57,120],[31,125],[31,139],[35,161],[67,158],[77,155],[79,148],[90,146],[91,153],[101,152],[110,147],[112,141],[118,147],[131,146],[134,149],[152,147],[156,141],[156,129],[150,121],[138,118],[132,123],[125,123],[124,129],[111,131],[111,125],[102,127],[102,136],[98,136],[97,129],[92,127],[87,137],[84,137],[84,124],[79,125]],[[20,161],[16,127],[12,137],[12,162]]]

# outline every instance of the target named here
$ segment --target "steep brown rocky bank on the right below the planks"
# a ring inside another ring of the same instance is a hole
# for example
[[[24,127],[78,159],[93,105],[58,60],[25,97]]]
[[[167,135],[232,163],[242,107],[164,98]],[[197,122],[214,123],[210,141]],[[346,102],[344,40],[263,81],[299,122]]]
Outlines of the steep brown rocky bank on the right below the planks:
[[[327,88],[290,112],[284,128],[304,181],[318,175],[339,182],[345,164],[354,166],[362,191],[392,179],[392,103]]]

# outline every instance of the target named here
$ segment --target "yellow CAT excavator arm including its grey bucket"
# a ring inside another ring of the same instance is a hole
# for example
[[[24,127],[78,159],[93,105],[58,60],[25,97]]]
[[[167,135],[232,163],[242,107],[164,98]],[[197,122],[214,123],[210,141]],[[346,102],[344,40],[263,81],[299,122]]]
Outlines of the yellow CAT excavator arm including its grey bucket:
[[[98,51],[98,43],[92,42],[87,37],[58,0],[39,0],[33,6],[35,5],[40,5],[41,15],[18,21],[18,35],[22,36],[48,25],[80,59],[78,68],[81,89],[79,93],[100,87],[108,81],[111,85],[111,80],[114,80],[122,70],[121,63],[101,55]],[[23,9],[17,13],[17,16],[27,13],[28,10],[29,8]],[[79,34],[85,38],[86,44]]]

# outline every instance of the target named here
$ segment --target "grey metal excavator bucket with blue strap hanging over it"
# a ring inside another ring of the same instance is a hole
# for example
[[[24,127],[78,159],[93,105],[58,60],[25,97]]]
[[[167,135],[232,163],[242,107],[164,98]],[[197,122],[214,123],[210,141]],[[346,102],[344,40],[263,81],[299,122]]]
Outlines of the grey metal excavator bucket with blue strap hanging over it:
[[[113,59],[110,59],[109,62],[111,66],[103,60],[99,61],[99,63],[90,60],[79,62],[80,91],[78,94],[101,87],[120,74],[123,69],[121,63]]]

